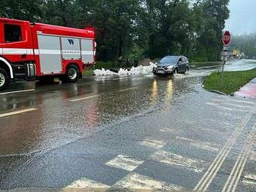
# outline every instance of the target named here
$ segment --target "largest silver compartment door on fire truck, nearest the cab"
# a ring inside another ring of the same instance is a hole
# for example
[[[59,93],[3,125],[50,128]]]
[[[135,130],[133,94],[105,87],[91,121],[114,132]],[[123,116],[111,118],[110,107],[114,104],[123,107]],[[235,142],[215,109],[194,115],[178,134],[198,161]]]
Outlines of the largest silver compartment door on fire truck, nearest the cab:
[[[42,74],[58,74],[62,71],[61,39],[57,36],[38,35],[38,48]]]

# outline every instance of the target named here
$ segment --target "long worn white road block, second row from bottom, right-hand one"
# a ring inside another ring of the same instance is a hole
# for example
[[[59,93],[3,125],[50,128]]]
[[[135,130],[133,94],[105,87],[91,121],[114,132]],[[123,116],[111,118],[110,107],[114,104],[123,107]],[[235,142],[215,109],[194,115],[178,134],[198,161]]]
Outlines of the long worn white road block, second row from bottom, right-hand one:
[[[175,153],[169,153],[166,151],[157,151],[153,155],[150,156],[150,159],[167,163],[168,165],[182,166],[188,168],[189,170],[193,170],[196,173],[201,173],[206,169],[206,162],[199,159],[189,159],[184,156],[179,156]]]

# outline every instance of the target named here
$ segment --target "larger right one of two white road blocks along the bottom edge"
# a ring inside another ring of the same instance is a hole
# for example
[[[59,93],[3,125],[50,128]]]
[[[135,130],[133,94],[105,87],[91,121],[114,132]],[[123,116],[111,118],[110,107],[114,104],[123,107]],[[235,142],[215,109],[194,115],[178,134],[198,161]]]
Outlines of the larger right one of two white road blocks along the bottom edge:
[[[113,185],[113,187],[126,188],[131,191],[185,191],[184,187],[154,180],[153,178],[137,173],[130,173],[128,176],[124,177],[123,180]]]

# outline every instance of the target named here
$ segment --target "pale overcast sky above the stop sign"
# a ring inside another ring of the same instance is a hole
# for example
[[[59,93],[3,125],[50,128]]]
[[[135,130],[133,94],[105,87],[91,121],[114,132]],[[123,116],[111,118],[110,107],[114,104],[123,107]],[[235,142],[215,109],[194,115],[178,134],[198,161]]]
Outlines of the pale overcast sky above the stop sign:
[[[256,33],[256,0],[230,0],[226,29],[235,35]]]

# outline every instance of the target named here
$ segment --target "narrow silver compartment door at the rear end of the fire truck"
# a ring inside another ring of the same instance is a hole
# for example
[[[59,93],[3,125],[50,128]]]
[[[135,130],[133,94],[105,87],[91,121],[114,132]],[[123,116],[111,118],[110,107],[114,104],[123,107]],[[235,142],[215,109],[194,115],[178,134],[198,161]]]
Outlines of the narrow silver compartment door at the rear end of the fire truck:
[[[81,39],[81,60],[83,63],[94,62],[94,50],[92,39]]]

